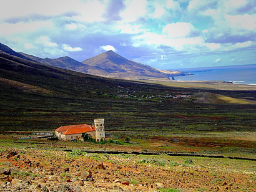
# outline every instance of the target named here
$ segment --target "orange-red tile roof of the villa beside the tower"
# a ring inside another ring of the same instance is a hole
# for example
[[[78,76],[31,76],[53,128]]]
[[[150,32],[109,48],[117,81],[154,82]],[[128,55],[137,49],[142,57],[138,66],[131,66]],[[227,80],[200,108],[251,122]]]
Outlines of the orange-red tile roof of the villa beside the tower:
[[[56,129],[56,132],[61,132],[63,135],[72,135],[72,134],[79,134],[79,133],[86,133],[94,131],[94,126],[91,125],[68,125],[62,126]]]

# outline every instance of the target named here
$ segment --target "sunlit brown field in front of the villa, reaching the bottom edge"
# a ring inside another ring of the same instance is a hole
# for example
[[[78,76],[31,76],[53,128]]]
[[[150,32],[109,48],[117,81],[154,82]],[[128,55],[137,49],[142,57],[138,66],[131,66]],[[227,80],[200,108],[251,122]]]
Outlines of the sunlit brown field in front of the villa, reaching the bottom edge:
[[[0,191],[255,191],[255,160],[166,154],[252,159],[254,132],[166,133],[147,138],[142,134],[129,143],[124,142],[129,132],[112,134],[122,145],[0,135]],[[158,155],[135,155],[133,151]],[[4,170],[11,172],[4,175]]]

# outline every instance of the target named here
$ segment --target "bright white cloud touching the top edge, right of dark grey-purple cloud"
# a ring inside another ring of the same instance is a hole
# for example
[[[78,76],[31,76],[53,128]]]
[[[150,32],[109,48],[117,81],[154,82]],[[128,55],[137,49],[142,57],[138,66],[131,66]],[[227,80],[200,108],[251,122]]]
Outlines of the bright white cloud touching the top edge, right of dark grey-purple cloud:
[[[144,17],[147,14],[146,7],[147,1],[146,0],[127,0],[124,2],[126,4],[126,9],[120,13],[122,20],[124,22],[134,22]]]

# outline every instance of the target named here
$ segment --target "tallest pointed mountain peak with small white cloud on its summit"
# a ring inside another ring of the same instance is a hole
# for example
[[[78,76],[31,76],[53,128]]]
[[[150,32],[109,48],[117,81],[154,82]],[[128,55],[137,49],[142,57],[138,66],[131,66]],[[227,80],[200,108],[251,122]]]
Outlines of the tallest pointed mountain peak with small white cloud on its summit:
[[[103,70],[107,77],[121,79],[167,78],[167,74],[164,72],[160,72],[149,65],[128,60],[112,50],[83,60],[82,63]]]

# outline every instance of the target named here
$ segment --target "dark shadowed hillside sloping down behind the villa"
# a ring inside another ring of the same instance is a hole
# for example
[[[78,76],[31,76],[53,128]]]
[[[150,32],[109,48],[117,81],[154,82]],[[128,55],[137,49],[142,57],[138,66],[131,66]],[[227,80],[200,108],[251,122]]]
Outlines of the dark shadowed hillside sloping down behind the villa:
[[[94,118],[105,118],[106,130],[144,136],[255,128],[255,105],[192,103],[175,97],[197,92],[97,77],[0,52],[0,131],[54,130],[62,125],[91,123]],[[209,92],[255,100],[254,91]],[[215,126],[220,120],[221,126]]]

